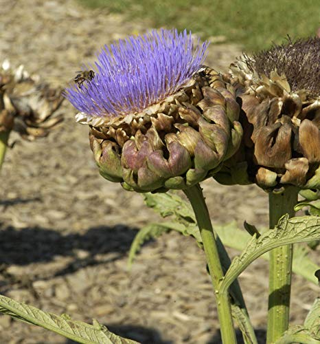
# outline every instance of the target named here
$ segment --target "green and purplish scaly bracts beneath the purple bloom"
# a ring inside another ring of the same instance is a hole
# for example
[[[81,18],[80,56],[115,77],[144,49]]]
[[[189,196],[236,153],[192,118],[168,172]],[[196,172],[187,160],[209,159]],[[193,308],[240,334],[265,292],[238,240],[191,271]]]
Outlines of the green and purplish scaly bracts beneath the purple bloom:
[[[124,189],[186,189],[218,171],[237,151],[239,111],[233,87],[206,67],[130,121],[92,125],[91,149],[102,176]]]

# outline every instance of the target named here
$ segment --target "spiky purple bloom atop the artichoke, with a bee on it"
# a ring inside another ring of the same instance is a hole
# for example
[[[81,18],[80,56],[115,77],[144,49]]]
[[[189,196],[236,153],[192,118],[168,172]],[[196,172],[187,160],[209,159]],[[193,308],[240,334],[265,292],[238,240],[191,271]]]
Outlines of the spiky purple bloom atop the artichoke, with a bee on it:
[[[130,36],[97,55],[95,76],[81,87],[73,84],[65,97],[81,112],[110,118],[141,112],[174,94],[201,67],[209,43],[196,47],[191,32],[153,30]]]

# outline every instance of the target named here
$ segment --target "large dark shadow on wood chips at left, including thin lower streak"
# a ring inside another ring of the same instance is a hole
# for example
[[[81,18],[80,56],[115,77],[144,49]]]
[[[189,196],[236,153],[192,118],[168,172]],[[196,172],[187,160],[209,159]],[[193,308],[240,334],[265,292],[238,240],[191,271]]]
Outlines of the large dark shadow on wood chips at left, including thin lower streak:
[[[92,227],[83,234],[63,235],[49,228],[17,230],[12,226],[1,228],[0,225],[0,275],[9,283],[21,283],[20,279],[16,280],[7,272],[9,266],[47,263],[54,261],[56,256],[71,259],[60,270],[48,271],[49,275],[43,279],[71,274],[87,266],[108,264],[127,254],[137,231],[137,228],[117,224]],[[78,255],[79,250],[84,252],[84,257]]]

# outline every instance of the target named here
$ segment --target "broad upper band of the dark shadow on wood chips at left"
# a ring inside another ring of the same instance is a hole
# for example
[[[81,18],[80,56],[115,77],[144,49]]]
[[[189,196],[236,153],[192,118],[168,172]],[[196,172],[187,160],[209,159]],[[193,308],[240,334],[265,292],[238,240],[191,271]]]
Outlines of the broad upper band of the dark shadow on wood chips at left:
[[[137,234],[137,228],[122,224],[113,227],[97,226],[84,234],[62,235],[49,228],[23,228],[12,226],[0,230],[0,261],[8,265],[27,265],[51,261],[54,256],[73,256],[74,250],[89,255],[117,252],[123,256]]]

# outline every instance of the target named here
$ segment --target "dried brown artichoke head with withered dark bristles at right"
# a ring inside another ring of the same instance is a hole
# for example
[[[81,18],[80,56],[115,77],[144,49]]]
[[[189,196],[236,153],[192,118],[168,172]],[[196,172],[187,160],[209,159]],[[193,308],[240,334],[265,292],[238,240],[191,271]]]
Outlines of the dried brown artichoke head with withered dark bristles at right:
[[[319,190],[320,39],[288,39],[244,55],[225,78],[236,88],[244,136],[216,179]]]

